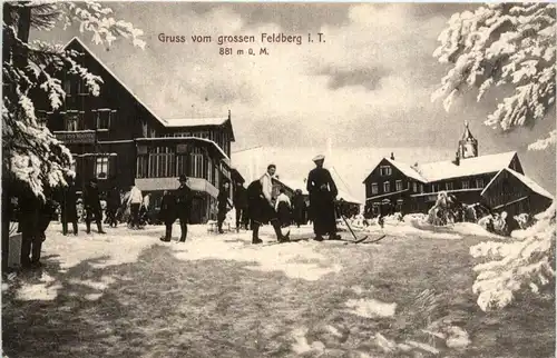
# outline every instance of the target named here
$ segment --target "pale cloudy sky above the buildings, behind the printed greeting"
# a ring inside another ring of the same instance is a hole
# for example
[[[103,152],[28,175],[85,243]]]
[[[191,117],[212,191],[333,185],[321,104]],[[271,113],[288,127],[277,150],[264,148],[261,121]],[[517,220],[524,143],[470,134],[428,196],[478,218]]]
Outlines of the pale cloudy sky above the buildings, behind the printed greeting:
[[[532,129],[500,133],[483,125],[500,93],[480,103],[465,95],[449,112],[430,101],[447,72],[432,57],[437,38],[452,13],[478,4],[109,6],[116,18],[144,31],[144,50],[125,39],[107,50],[77,28],[33,36],[59,43],[80,37],[163,118],[219,117],[231,110],[233,151],[272,148],[260,155],[280,161],[283,176],[299,179],[311,169],[313,156],[329,152],[325,166],[334,166],[352,193],[363,199],[361,182],[381,157],[395,150],[397,159],[410,163],[452,159],[469,121],[480,155],[518,151],[526,173],[555,193],[555,149],[527,151],[555,128],[555,116]],[[307,42],[310,32],[313,43]],[[317,41],[317,32],[324,42]],[[184,36],[186,42],[162,42],[162,33]],[[302,44],[262,43],[261,33],[299,34]],[[193,42],[195,34],[211,36],[213,42]],[[218,46],[221,34],[253,34],[256,42]],[[268,54],[236,53],[248,48],[258,53],[262,47]],[[234,54],[221,56],[219,48],[232,48]],[[245,151],[236,157],[238,163],[247,160]]]

